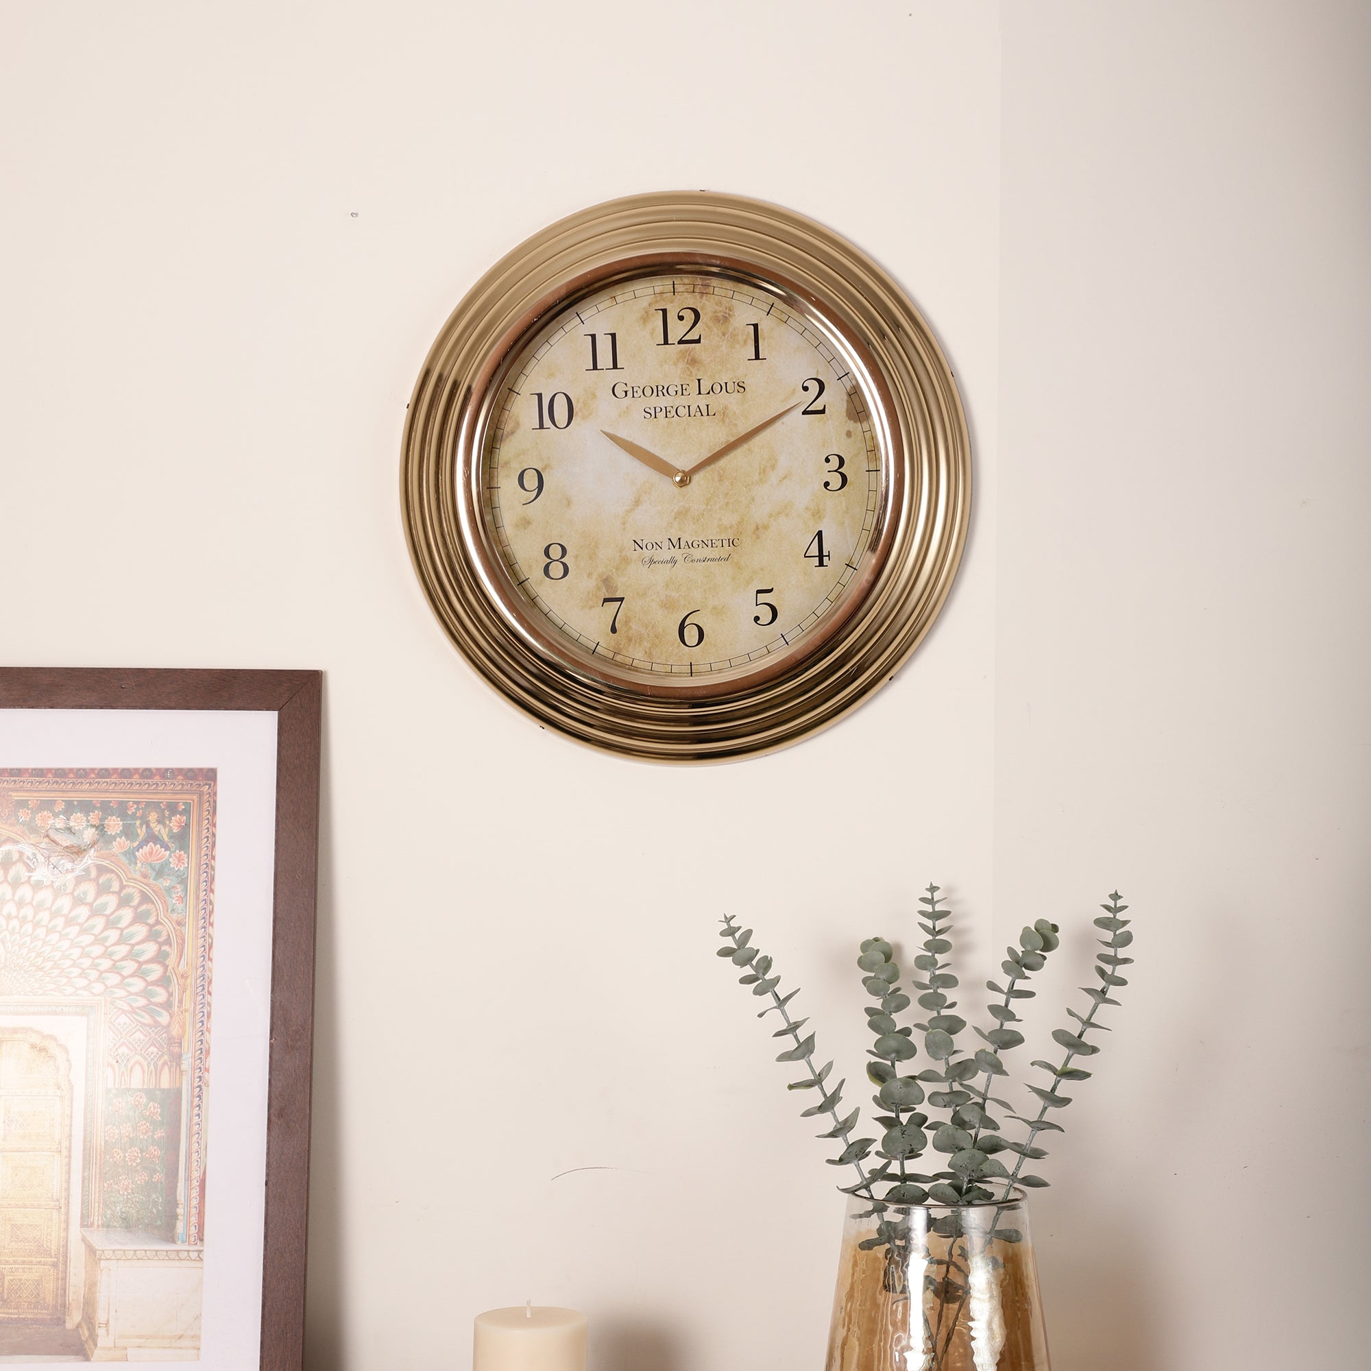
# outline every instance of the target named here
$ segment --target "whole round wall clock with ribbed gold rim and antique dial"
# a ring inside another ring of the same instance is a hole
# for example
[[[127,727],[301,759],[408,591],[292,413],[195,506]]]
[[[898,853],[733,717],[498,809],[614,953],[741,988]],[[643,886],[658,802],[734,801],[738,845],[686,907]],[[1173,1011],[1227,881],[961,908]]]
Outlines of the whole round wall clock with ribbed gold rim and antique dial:
[[[595,206],[496,263],[424,363],[402,466],[470,664],[657,761],[781,747],[890,680],[971,502],[957,387],[899,287],[710,192]]]

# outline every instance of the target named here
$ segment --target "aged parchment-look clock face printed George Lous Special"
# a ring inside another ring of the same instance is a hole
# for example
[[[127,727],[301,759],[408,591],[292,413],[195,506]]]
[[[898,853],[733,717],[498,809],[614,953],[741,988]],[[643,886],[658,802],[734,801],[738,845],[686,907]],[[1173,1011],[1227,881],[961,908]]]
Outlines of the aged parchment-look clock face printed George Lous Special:
[[[686,266],[539,322],[491,392],[476,507],[535,642],[631,686],[769,673],[871,579],[888,439],[858,350],[780,287]]]

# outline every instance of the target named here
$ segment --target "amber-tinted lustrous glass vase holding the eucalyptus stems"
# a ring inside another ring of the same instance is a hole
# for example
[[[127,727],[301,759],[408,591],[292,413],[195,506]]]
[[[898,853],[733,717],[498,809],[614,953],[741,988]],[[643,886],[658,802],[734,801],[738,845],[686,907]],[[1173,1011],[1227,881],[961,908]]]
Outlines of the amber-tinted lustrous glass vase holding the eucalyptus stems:
[[[847,1201],[827,1371],[1049,1371],[1023,1191]]]

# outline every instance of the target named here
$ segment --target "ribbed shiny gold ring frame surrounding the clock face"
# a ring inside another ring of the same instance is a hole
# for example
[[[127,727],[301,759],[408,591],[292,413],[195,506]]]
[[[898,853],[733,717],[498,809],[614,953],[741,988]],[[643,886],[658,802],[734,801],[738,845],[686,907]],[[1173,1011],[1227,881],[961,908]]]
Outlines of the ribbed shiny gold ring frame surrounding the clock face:
[[[679,263],[758,278],[869,367],[883,522],[842,613],[794,658],[690,688],[628,683],[559,643],[502,584],[478,470],[507,361],[606,280]],[[879,411],[880,413],[879,413]],[[400,470],[404,536],[439,622],[476,670],[548,728],[651,761],[771,751],[836,723],[888,681],[951,587],[971,513],[971,441],[932,330],[865,254],[779,206],[709,191],[610,200],[517,247],[468,292],[414,387]]]

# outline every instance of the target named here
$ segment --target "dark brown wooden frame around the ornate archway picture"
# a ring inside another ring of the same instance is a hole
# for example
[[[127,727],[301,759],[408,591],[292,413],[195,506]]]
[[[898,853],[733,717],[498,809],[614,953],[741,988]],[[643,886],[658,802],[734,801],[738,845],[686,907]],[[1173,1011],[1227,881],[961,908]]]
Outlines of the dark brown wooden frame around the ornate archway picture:
[[[303,1364],[321,702],[310,670],[0,668],[0,710],[276,716],[260,1371]]]

